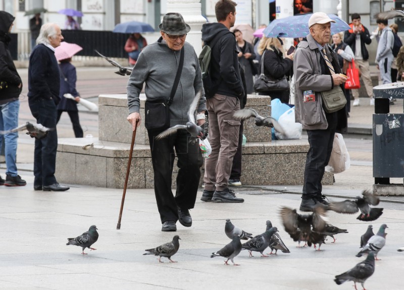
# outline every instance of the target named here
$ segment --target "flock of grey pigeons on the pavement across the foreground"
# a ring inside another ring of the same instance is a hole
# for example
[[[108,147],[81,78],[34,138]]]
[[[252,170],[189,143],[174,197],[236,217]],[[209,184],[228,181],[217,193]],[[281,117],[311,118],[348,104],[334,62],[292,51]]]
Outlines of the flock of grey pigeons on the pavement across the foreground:
[[[379,198],[374,194],[364,191],[362,197],[358,196],[355,200],[344,200],[341,202],[329,203],[328,210],[333,210],[339,213],[351,213],[354,214],[361,211],[361,214],[357,217],[359,220],[372,221],[377,219],[382,213],[383,208],[375,208],[370,205],[378,205],[380,202]],[[334,239],[332,243],[335,242],[334,235],[341,233],[348,233],[346,229],[341,229],[325,221],[326,209],[319,206],[315,208],[314,212],[311,214],[299,214],[295,209],[288,207],[282,207],[280,209],[280,216],[285,228],[285,231],[293,239],[293,241],[298,242],[300,247],[300,242],[305,242],[305,246],[314,246],[318,251],[320,247],[325,243],[327,236]],[[366,279],[368,279],[375,271],[375,260],[377,254],[384,247],[386,243],[386,224],[382,224],[375,235],[373,233],[373,226],[368,225],[366,233],[361,236],[361,246],[362,250],[356,255],[357,257],[362,257],[363,254],[367,254],[367,258],[358,263],[355,267],[349,269],[348,271],[335,276],[334,281],[339,285],[345,281],[354,281],[355,289],[357,289],[356,283],[361,283],[364,287]],[[98,233],[96,231],[96,226],[91,225],[89,230],[78,236],[77,238],[69,238],[66,245],[75,245],[82,247],[84,253],[85,248],[91,250],[96,250],[91,248],[98,239]],[[264,233],[258,236],[252,236],[252,234],[247,233],[241,228],[235,226],[230,219],[226,219],[225,224],[225,234],[231,239],[231,242],[224,246],[217,252],[212,253],[211,258],[214,257],[224,257],[225,265],[228,265],[230,260],[233,265],[237,266],[234,262],[234,258],[240,254],[242,250],[247,250],[249,252],[249,257],[254,257],[252,252],[261,253],[261,257],[268,257],[264,254],[265,249],[271,248],[271,252],[268,255],[276,255],[277,251],[280,250],[283,253],[290,253],[289,249],[283,243],[281,237],[279,236],[278,228],[272,226],[270,220],[266,222],[266,230]],[[179,245],[180,237],[175,235],[171,242],[165,243],[156,248],[146,249],[147,253],[143,255],[155,255],[159,256],[158,260],[161,261],[162,257],[166,257],[170,262],[176,262],[171,259],[180,247]],[[246,240],[244,244],[241,244],[241,240]],[[275,250],[275,253],[273,251]],[[397,251],[404,251],[404,247],[398,249]]]

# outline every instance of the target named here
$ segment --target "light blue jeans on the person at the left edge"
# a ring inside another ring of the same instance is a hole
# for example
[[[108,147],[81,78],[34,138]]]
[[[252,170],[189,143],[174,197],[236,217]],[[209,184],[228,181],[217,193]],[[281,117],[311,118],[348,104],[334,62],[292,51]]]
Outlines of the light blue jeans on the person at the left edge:
[[[0,130],[11,130],[18,127],[18,112],[20,110],[20,100],[8,102],[0,105]],[[0,135],[0,151],[3,143],[5,144],[5,157],[7,170],[6,174],[12,177],[17,176],[17,138],[18,132]]]

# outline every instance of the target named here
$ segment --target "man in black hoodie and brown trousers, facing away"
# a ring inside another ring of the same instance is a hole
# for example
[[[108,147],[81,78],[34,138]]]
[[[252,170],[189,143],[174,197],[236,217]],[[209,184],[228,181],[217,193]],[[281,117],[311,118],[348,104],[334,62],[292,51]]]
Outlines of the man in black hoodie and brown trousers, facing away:
[[[228,188],[240,128],[240,121],[234,120],[233,114],[240,109],[239,98],[244,94],[236,40],[229,31],[236,21],[236,5],[231,0],[218,1],[215,6],[218,23],[202,27],[202,40],[212,49],[209,73],[215,88],[213,95],[205,95],[212,153],[205,160],[203,201],[244,201]]]

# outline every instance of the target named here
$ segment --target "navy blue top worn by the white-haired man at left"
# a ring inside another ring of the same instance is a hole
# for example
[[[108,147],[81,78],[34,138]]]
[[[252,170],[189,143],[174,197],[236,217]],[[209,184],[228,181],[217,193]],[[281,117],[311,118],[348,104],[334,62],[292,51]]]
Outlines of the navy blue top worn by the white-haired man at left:
[[[29,57],[28,66],[28,98],[53,98],[60,101],[60,73],[55,52],[44,44],[34,47]]]

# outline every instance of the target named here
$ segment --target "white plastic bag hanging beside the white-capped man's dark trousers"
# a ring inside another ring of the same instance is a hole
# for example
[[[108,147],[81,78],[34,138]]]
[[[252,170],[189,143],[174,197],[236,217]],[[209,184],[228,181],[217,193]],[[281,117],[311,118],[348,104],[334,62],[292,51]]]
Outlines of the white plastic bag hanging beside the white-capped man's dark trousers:
[[[330,162],[328,162],[325,170],[331,173],[341,173],[349,169],[349,166],[349,153],[348,149],[346,149],[344,138],[341,134],[335,133]]]

